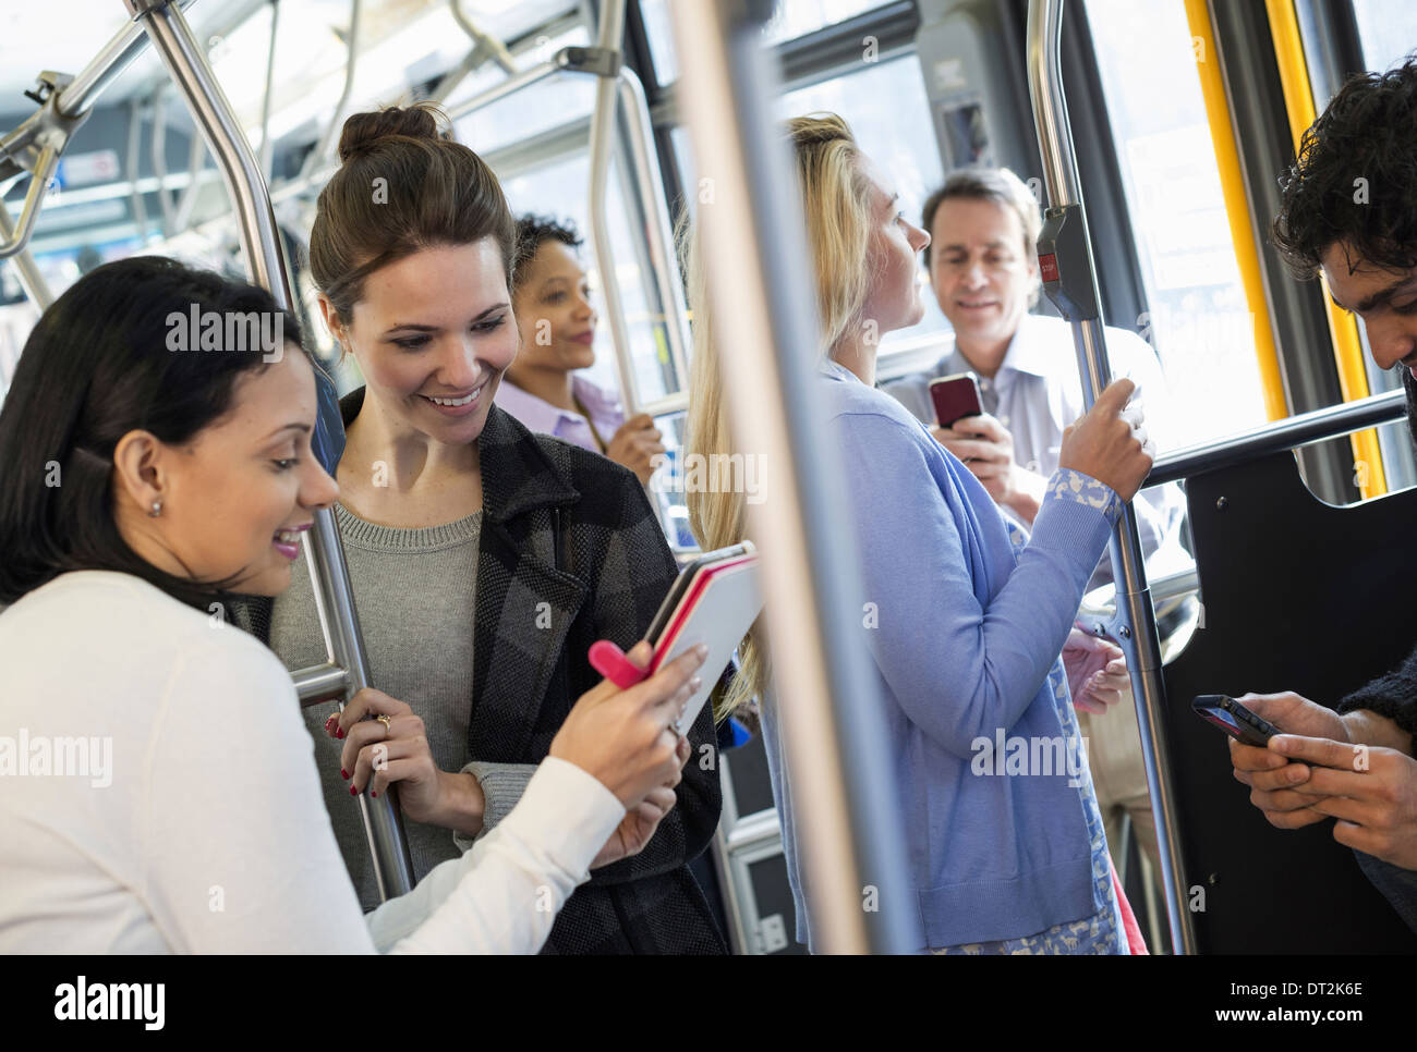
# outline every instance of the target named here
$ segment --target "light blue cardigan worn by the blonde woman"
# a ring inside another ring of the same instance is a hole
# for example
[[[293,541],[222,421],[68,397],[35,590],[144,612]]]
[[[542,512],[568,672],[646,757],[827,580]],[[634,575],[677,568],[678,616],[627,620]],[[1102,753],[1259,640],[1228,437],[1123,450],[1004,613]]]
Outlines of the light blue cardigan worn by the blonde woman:
[[[1078,772],[1076,731],[1071,721],[1064,729],[1049,678],[1121,511],[1117,494],[1060,470],[1016,551],[983,486],[924,425],[843,367],[829,361],[822,374],[921,946],[1030,936],[1110,909],[1090,852],[1091,779],[1085,760]],[[811,946],[779,731],[768,704],[798,940]]]

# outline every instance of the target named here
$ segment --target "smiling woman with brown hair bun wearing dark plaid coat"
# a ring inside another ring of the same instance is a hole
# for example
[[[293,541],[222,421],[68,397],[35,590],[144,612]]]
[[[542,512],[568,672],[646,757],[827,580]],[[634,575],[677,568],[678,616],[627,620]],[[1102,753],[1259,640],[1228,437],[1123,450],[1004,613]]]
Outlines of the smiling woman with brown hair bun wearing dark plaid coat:
[[[366,909],[378,896],[351,797],[398,786],[415,878],[465,851],[599,682],[591,644],[640,640],[676,575],[633,474],[496,405],[519,345],[516,225],[492,170],[442,127],[428,103],[346,120],[310,232],[320,311],[366,379],[341,401],[334,514],[378,690],[305,718]],[[326,660],[307,575],[295,581],[247,612],[292,670]],[[680,749],[713,743],[704,711]],[[724,951],[686,867],[720,803],[717,765],[697,759],[650,794],[547,951]]]

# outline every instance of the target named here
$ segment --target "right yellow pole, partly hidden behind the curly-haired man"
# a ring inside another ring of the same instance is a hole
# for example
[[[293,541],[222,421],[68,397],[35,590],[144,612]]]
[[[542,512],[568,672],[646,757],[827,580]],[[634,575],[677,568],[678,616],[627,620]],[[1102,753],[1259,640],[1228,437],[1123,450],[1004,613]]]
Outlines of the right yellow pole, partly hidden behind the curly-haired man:
[[[1294,13],[1294,0],[1265,0],[1270,14],[1270,35],[1274,40],[1274,57],[1280,67],[1280,84],[1284,86],[1284,109],[1289,118],[1289,135],[1294,139],[1294,154],[1309,125],[1314,123],[1314,88],[1309,84],[1309,68],[1304,61],[1304,41],[1299,37],[1299,21]],[[1322,280],[1322,279],[1321,279]],[[1367,372],[1363,370],[1363,344],[1357,338],[1357,320],[1333,306],[1323,289],[1323,307],[1328,311],[1329,336],[1333,340],[1333,360],[1338,364],[1339,391],[1345,402],[1366,398],[1369,394]],[[1353,481],[1363,497],[1380,497],[1387,493],[1387,477],[1383,473],[1383,452],[1377,443],[1376,430],[1365,430],[1350,436],[1353,443]]]

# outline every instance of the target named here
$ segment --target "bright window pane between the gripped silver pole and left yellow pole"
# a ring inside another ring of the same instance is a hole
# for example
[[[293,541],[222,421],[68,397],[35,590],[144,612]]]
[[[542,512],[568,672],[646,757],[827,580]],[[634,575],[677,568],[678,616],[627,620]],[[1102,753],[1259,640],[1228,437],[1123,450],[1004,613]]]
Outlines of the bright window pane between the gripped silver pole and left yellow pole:
[[[1196,72],[1197,61],[1214,57],[1197,54],[1202,42],[1192,41],[1179,0],[1087,0],[1087,17],[1151,307],[1149,316],[1107,321],[1139,330],[1158,348],[1178,442],[1261,425],[1254,317]]]

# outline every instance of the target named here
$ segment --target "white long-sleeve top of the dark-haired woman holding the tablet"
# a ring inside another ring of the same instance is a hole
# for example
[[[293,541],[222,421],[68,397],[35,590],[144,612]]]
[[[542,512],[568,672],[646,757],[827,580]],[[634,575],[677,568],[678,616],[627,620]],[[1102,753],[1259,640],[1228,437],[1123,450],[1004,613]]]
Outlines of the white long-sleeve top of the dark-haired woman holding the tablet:
[[[548,757],[366,916],[289,674],[220,610],[65,573],[0,614],[0,953],[534,953],[625,816]]]

